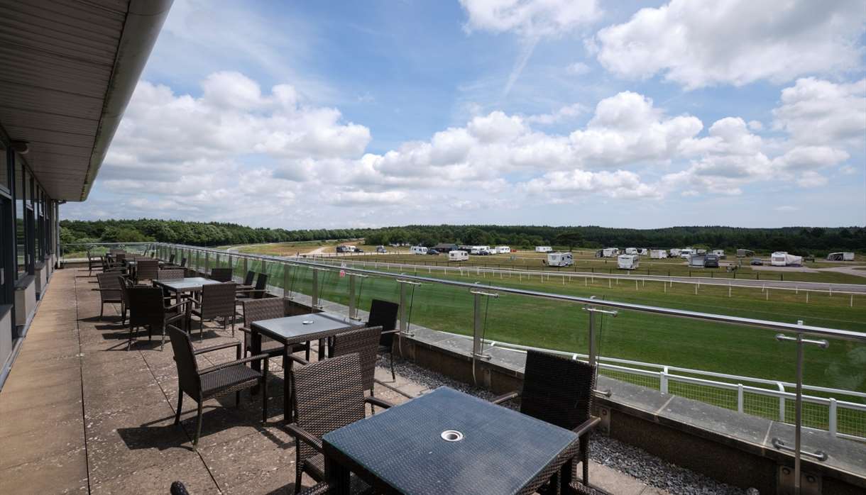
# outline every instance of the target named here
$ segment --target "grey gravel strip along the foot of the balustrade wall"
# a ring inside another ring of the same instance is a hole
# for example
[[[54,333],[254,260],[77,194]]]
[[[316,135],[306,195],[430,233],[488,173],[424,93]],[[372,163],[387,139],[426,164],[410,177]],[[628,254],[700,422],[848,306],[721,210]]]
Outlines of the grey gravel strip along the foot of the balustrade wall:
[[[378,366],[388,368],[387,360],[379,358]],[[397,371],[398,376],[420,383],[429,389],[445,385],[484,400],[495,397],[488,389],[458,382],[399,357],[394,359],[394,370]],[[510,408],[516,408],[513,401],[506,405]],[[591,436],[590,459],[674,495],[758,495],[758,492],[753,489],[743,490],[736,486],[726,485],[602,434],[592,434]]]

